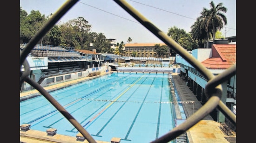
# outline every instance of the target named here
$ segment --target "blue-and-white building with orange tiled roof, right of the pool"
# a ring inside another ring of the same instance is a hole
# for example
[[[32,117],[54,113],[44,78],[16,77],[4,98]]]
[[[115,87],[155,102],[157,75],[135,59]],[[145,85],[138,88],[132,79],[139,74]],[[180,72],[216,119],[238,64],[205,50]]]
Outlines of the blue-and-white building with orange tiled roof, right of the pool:
[[[208,68],[212,74],[218,75],[236,64],[236,44],[229,44],[225,39],[224,41],[226,41],[226,44],[223,44],[222,39],[218,40],[216,44],[211,44],[211,48],[199,48],[188,52]],[[221,42],[221,44],[218,44],[218,42]],[[175,60],[176,63],[181,65],[181,78],[186,81],[190,90],[202,105],[206,103],[208,97],[204,90],[208,79],[180,55],[176,54]],[[222,90],[222,102],[236,114],[236,75],[222,83]],[[226,120],[220,111],[215,110],[211,115],[218,122],[225,122]]]

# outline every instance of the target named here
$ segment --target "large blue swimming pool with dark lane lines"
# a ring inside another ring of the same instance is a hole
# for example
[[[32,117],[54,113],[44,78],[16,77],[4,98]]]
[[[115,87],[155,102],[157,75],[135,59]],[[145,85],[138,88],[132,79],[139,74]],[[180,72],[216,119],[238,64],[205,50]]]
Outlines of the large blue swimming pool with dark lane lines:
[[[113,73],[50,94],[95,140],[120,137],[121,143],[149,143],[175,127],[170,76]],[[78,133],[42,95],[20,102],[20,124],[38,131],[55,128],[73,137]]]

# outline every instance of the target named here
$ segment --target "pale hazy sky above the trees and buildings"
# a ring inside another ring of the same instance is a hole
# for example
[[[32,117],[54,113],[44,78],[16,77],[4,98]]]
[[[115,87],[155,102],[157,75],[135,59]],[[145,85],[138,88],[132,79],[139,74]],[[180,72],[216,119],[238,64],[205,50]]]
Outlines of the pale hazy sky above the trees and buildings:
[[[22,10],[28,14],[39,11],[45,16],[54,14],[66,0],[20,0]],[[211,0],[126,0],[153,25],[167,33],[176,26],[186,32],[200,16],[202,9],[210,9]],[[222,2],[227,8],[223,13],[227,25],[221,30],[224,37],[236,36],[236,0],[213,0],[215,5]],[[103,33],[106,38],[116,39],[118,43],[163,43],[151,31],[141,25],[114,0],[79,0],[57,24],[83,17],[91,25],[91,32]]]

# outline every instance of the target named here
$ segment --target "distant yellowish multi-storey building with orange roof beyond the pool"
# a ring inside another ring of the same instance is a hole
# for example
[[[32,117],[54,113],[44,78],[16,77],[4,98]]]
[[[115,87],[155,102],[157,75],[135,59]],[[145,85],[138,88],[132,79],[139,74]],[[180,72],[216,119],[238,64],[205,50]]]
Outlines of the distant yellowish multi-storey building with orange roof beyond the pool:
[[[157,57],[157,53],[155,50],[155,44],[157,43],[132,43],[125,44],[125,56],[133,56],[135,52],[135,57]],[[163,56],[163,58],[168,58],[170,56],[170,49],[168,45],[161,43],[160,46],[165,45],[168,48],[167,55]]]

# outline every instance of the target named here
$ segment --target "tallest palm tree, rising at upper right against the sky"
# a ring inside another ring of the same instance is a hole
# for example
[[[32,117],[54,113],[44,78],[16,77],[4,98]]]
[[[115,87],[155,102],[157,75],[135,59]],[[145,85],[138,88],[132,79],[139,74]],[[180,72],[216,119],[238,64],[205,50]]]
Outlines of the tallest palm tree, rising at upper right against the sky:
[[[227,8],[223,6],[222,2],[215,6],[214,2],[210,2],[211,9],[204,8],[203,13],[207,17],[206,25],[210,26],[213,30],[213,42],[217,30],[221,30],[224,25],[227,25],[227,18],[222,12],[227,12]]]

